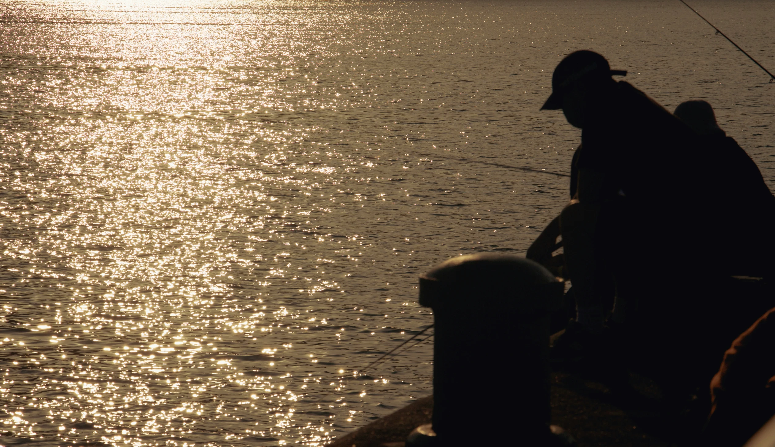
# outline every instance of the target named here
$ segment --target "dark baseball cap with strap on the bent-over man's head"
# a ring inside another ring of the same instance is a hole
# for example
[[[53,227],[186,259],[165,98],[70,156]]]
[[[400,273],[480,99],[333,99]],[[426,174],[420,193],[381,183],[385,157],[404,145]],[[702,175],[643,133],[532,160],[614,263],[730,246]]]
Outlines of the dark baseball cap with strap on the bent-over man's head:
[[[611,70],[608,60],[589,50],[579,50],[568,54],[554,69],[552,74],[552,95],[541,106],[541,110],[563,108],[563,95],[570,84],[581,79],[605,79],[613,75],[626,76],[626,70]]]

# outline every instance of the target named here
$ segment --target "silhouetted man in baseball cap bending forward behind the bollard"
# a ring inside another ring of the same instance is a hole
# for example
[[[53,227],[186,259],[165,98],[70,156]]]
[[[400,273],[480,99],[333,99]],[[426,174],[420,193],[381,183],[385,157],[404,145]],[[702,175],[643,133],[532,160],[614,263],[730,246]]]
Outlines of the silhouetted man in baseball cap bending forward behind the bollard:
[[[613,320],[634,335],[629,351],[670,363],[677,352],[664,346],[691,332],[684,322],[697,308],[687,278],[713,274],[704,256],[687,262],[689,253],[703,248],[690,241],[704,240],[696,219],[705,206],[703,173],[694,169],[700,150],[688,126],[632,85],[611,78],[625,73],[611,70],[598,53],[570,53],[554,70],[552,95],[542,107],[562,109],[582,129],[576,195],[559,225],[577,320],[556,346],[581,346],[582,355],[593,358],[611,356],[597,336],[611,311],[602,304],[605,287],[599,283],[610,274],[616,284]],[[532,253],[548,246],[547,236],[539,237]]]

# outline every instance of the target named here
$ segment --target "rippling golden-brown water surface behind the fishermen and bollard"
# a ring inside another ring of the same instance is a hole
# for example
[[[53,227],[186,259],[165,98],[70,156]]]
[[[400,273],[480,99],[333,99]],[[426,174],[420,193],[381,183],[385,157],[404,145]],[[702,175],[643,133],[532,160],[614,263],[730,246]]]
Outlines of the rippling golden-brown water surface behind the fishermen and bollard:
[[[775,3],[694,5],[775,69]],[[679,2],[0,19],[3,445],[322,445],[429,394],[431,342],[343,378],[432,322],[418,273],[523,253],[562,207],[567,179],[477,162],[568,172],[579,132],[538,111],[563,53],[708,99],[775,184],[775,84]],[[460,366],[462,392],[511,386]]]

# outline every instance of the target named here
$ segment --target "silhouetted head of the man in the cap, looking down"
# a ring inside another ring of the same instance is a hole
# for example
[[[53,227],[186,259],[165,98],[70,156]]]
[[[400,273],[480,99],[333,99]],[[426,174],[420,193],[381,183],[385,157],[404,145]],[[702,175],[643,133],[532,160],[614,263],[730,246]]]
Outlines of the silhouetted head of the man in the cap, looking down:
[[[552,74],[552,95],[541,110],[562,108],[571,125],[583,128],[601,95],[605,95],[616,82],[611,75],[625,76],[626,71],[611,70],[608,60],[589,50],[570,53]]]

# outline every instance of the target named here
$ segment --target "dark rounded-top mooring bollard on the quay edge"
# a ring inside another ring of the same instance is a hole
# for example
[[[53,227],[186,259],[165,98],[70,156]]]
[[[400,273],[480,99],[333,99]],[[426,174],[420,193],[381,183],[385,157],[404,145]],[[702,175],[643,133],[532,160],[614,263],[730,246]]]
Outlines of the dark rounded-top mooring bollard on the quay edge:
[[[436,331],[433,423],[407,447],[563,445],[549,428],[549,311],[562,296],[562,282],[518,256],[460,256],[423,274],[420,304],[433,308]]]

